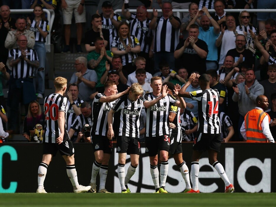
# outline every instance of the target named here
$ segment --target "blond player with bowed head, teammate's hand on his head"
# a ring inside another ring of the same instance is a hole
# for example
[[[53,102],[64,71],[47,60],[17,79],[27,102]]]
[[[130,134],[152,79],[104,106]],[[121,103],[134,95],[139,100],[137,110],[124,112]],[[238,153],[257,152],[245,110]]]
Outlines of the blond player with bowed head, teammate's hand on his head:
[[[143,92],[144,90],[139,83],[131,84],[129,95],[118,99],[116,105],[113,105],[112,110],[108,114],[107,136],[111,140],[114,136],[112,128],[113,114],[115,112],[121,112],[116,152],[119,153],[118,178],[120,180],[122,193],[130,193],[127,184],[134,175],[139,162],[139,117],[143,108],[143,101],[140,99],[140,96]],[[130,154],[131,164],[127,169],[125,177],[126,154]]]

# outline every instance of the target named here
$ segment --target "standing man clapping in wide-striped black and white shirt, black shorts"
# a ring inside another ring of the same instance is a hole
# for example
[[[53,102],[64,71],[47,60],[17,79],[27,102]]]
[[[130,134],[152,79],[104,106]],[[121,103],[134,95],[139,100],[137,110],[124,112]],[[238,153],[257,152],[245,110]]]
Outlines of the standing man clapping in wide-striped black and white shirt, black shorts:
[[[149,24],[150,29],[155,30],[153,61],[154,69],[158,71],[159,62],[165,60],[170,69],[174,70],[173,52],[178,44],[178,31],[180,19],[173,16],[170,2],[162,4],[162,16],[158,17],[157,10],[153,9],[153,18]]]

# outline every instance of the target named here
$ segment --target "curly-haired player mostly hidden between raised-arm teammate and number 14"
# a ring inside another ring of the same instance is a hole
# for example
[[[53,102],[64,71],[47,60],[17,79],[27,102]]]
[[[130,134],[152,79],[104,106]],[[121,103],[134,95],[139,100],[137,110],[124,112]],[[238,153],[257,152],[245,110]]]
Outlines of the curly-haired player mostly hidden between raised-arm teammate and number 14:
[[[163,86],[168,86],[168,93],[173,95],[174,94],[178,97],[178,91],[181,89],[179,84],[173,85],[171,82],[163,83]],[[179,99],[183,99],[182,97],[178,97]],[[173,123],[173,127],[170,128],[170,138],[171,138],[171,145],[169,154],[173,155],[173,159],[177,166],[180,169],[181,175],[186,183],[186,189],[184,193],[188,193],[191,190],[191,183],[189,177],[189,169],[185,162],[183,161],[182,157],[182,133],[181,133],[181,123],[180,123],[180,108],[177,106],[170,105],[169,110],[169,122],[170,125]]]

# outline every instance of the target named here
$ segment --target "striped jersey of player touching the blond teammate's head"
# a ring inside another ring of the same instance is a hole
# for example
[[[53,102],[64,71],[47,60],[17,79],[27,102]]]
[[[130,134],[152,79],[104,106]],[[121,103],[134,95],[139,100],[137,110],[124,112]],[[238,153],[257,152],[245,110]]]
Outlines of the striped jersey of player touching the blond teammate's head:
[[[94,134],[107,136],[108,123],[107,117],[108,113],[111,110],[111,107],[115,104],[116,101],[110,103],[101,103],[100,97],[105,96],[103,93],[98,93],[95,95],[92,104],[92,129],[91,135]]]

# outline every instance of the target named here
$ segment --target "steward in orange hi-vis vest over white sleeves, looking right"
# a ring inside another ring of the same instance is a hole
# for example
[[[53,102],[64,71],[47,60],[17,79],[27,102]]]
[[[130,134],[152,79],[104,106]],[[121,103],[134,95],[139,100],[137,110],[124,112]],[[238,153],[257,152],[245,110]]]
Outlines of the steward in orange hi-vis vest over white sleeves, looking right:
[[[245,115],[241,135],[246,142],[274,143],[269,129],[270,117],[264,112],[268,109],[268,105],[267,97],[260,95],[256,98],[256,107]]]

